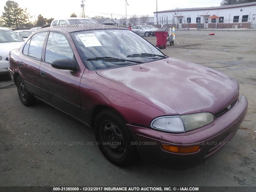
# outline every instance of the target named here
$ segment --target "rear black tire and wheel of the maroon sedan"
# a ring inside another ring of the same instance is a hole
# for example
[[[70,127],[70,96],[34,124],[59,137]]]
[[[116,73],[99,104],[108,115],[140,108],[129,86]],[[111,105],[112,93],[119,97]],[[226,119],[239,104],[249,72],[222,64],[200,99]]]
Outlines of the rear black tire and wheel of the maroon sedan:
[[[18,95],[20,97],[20,101],[22,102],[22,104],[24,104],[25,106],[34,105],[36,103],[36,98],[29,92],[27,92],[21,76],[18,76],[16,85]]]

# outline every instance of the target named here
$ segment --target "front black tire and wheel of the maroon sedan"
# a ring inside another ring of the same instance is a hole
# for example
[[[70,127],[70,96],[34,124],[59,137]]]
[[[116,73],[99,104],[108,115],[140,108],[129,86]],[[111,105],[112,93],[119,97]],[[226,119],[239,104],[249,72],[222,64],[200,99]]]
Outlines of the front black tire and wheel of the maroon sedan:
[[[102,154],[117,166],[128,166],[138,160],[132,136],[123,118],[113,110],[103,110],[95,119],[95,137]]]

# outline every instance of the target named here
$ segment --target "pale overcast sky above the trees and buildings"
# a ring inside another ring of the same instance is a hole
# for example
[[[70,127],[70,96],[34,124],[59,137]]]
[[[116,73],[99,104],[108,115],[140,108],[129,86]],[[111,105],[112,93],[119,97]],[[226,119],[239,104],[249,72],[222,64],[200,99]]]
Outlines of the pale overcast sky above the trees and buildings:
[[[81,14],[81,0],[14,0],[23,9],[27,8],[30,16],[42,14],[45,18],[66,18],[72,12]],[[0,15],[4,11],[6,0],[0,0]],[[127,18],[137,16],[154,16],[156,0],[127,0]],[[220,6],[221,0],[158,0],[158,11],[175,8],[196,8]],[[89,17],[96,15],[111,18],[121,18],[126,15],[125,0],[85,0],[85,14]]]

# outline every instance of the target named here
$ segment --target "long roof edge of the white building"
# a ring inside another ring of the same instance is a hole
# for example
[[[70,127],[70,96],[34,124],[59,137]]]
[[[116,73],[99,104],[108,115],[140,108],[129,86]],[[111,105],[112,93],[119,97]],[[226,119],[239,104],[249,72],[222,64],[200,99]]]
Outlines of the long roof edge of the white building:
[[[229,8],[246,7],[246,6],[256,6],[256,2],[241,3],[241,4],[235,4],[235,5],[225,5],[225,6],[218,6],[218,7],[173,9],[173,10],[166,10],[166,11],[158,11],[158,13],[176,12],[176,11],[180,12],[180,11],[199,11],[199,10],[229,9]],[[156,12],[154,12],[154,13],[156,13]]]

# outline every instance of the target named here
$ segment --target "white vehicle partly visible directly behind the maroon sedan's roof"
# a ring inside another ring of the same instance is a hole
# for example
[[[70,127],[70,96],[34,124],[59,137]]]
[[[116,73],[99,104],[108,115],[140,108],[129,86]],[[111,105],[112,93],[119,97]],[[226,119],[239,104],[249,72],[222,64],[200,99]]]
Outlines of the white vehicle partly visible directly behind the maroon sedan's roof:
[[[52,20],[51,26],[74,25],[74,24],[99,24],[99,23],[89,18],[70,17],[70,18],[54,19]]]

